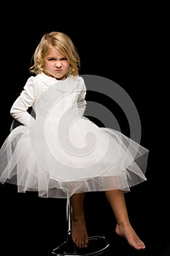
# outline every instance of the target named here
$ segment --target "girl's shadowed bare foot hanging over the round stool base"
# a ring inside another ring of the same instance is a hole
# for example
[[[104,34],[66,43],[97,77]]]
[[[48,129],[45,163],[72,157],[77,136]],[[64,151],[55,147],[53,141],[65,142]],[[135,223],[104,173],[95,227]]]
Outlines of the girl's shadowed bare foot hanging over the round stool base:
[[[80,248],[88,246],[88,233],[84,217],[72,219],[72,240]]]

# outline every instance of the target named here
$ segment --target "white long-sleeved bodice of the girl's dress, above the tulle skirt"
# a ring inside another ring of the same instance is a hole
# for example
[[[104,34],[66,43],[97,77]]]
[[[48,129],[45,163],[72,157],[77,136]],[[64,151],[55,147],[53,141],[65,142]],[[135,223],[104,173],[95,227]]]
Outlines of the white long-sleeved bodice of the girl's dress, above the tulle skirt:
[[[60,118],[74,107],[77,115],[82,116],[85,107],[86,88],[82,77],[68,77],[56,80],[44,73],[28,78],[26,85],[15,100],[10,113],[21,124],[28,125],[30,118],[28,108],[32,107],[39,118]]]

